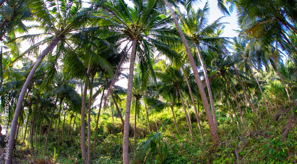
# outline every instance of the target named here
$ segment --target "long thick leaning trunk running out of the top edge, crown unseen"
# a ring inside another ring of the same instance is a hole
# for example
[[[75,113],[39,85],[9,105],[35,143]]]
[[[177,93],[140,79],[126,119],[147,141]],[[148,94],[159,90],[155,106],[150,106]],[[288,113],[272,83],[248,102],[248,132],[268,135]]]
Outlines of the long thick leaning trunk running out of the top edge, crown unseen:
[[[176,15],[175,15],[173,9],[171,8],[171,6],[169,5],[167,0],[164,0],[164,1],[165,1],[165,4],[170,9],[170,12],[171,12],[171,15],[173,17],[176,28],[177,28],[179,34],[181,35],[181,39],[183,40],[185,49],[187,51],[187,55],[188,55],[189,61],[191,63],[191,67],[192,67],[192,70],[193,70],[193,73],[194,73],[194,76],[195,76],[195,80],[196,80],[196,83],[197,83],[199,91],[200,91],[200,95],[201,95],[201,98],[202,98],[204,109],[205,109],[205,112],[206,112],[209,129],[211,131],[212,140],[216,142],[217,146],[219,146],[219,145],[221,145],[221,141],[220,141],[219,136],[217,134],[216,126],[214,125],[214,120],[213,120],[213,117],[212,117],[210,109],[209,109],[209,104],[208,104],[208,100],[207,100],[207,97],[206,97],[206,93],[204,91],[204,87],[203,87],[203,84],[201,82],[199,72],[198,72],[198,69],[196,67],[196,64],[195,64],[191,49],[190,49],[189,44],[188,44],[188,42],[186,40],[186,37],[184,36],[183,31],[181,30],[181,27],[178,24],[178,19],[177,19]]]

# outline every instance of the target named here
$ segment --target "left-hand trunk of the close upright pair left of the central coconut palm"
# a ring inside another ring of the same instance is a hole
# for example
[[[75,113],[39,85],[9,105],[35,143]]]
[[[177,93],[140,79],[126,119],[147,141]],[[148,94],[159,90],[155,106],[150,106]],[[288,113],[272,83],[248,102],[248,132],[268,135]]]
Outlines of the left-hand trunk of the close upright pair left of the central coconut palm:
[[[91,71],[91,59],[89,60],[89,65],[87,69],[87,75],[90,75]],[[86,154],[86,125],[85,125],[85,111],[86,111],[86,100],[87,100],[87,91],[88,91],[88,78],[86,77],[84,89],[83,89],[83,100],[81,106],[81,130],[80,130],[80,137],[81,137],[81,154],[84,158],[83,161],[85,164],[89,164],[88,156]]]

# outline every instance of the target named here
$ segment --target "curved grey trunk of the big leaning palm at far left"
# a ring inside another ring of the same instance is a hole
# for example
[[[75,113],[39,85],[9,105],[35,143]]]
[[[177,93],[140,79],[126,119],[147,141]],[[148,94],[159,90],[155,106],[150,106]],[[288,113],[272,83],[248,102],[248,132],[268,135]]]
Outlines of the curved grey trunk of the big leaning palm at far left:
[[[27,88],[31,82],[31,79],[34,76],[35,71],[37,70],[38,66],[40,65],[40,63],[42,62],[43,58],[45,57],[46,54],[48,54],[48,52],[52,51],[54,47],[56,47],[56,45],[58,44],[58,42],[62,39],[62,37],[56,37],[54,38],[50,44],[48,44],[48,47],[45,48],[45,50],[42,51],[42,53],[40,54],[40,56],[37,58],[37,61],[35,62],[33,68],[31,69],[22,90],[20,91],[20,95],[18,98],[18,104],[15,108],[15,114],[13,116],[12,119],[12,124],[11,124],[11,129],[10,129],[10,135],[9,135],[9,141],[8,141],[8,159],[5,161],[5,164],[11,164],[12,163],[12,154],[13,154],[13,148],[14,148],[14,144],[15,144],[15,131],[17,128],[17,124],[18,124],[18,116],[20,114],[20,109],[22,108],[22,104],[23,104],[23,99],[25,97],[25,94],[27,92]]]

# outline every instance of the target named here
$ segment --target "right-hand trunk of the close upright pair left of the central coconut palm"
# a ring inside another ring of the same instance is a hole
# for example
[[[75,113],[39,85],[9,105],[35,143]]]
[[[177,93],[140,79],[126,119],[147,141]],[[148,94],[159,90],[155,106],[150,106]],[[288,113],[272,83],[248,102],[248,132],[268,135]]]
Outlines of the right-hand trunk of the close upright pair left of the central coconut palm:
[[[93,50],[94,51],[94,50]],[[96,72],[93,73],[91,79],[90,93],[89,93],[89,106],[88,106],[88,163],[91,164],[91,106],[93,96],[93,82]]]

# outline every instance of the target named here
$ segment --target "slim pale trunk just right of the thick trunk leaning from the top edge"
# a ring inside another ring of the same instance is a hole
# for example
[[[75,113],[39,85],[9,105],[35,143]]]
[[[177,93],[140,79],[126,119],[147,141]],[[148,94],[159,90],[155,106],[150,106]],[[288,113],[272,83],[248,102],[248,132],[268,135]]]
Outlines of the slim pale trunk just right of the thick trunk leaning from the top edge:
[[[207,90],[208,90],[209,101],[210,101],[210,106],[211,106],[211,111],[212,111],[212,117],[214,119],[214,125],[216,125],[216,128],[218,129],[217,114],[216,114],[216,109],[214,108],[214,100],[212,98],[212,93],[211,93],[210,83],[209,83],[209,80],[208,80],[207,70],[206,70],[206,67],[204,65],[204,61],[203,61],[203,58],[202,58],[202,55],[200,53],[200,50],[198,48],[197,43],[195,43],[195,45],[197,47],[198,56],[199,56],[200,63],[201,63],[201,66],[202,66],[202,69],[203,69],[203,72],[204,72],[204,76],[205,76],[205,81],[206,81],[206,86],[207,86]]]

